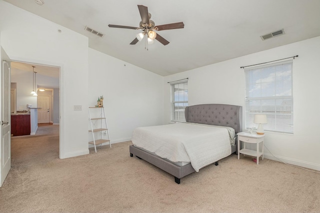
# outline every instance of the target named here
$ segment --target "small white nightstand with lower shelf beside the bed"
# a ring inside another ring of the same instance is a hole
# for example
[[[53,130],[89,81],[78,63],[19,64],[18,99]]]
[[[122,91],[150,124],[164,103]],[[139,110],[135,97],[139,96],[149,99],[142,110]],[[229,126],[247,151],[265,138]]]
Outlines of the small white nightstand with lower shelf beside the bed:
[[[259,164],[259,157],[262,156],[263,160],[263,140],[264,135],[258,135],[256,133],[248,133],[248,132],[239,132],[237,133],[238,136],[238,160],[240,159],[240,153],[243,155],[249,155],[256,157],[256,164]],[[243,149],[240,150],[241,142],[243,142]],[[245,149],[245,144],[256,144],[256,151]],[[261,152],[259,151],[259,144],[262,144]]]

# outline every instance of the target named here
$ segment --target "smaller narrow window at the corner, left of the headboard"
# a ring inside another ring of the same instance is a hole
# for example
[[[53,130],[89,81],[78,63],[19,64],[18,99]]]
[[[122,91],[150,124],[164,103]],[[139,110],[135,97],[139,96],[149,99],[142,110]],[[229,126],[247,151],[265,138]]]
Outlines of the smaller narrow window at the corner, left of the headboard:
[[[171,83],[172,96],[172,121],[185,122],[184,108],[188,106],[187,80]]]

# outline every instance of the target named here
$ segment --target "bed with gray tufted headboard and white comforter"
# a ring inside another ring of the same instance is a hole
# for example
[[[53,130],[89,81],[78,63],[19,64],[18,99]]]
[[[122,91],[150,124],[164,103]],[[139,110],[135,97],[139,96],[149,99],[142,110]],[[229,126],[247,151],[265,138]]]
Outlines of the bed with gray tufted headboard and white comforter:
[[[242,107],[236,105],[193,105],[185,108],[184,115],[186,123],[136,128],[129,146],[130,157],[171,174],[177,184],[236,152],[235,137],[242,124]]]

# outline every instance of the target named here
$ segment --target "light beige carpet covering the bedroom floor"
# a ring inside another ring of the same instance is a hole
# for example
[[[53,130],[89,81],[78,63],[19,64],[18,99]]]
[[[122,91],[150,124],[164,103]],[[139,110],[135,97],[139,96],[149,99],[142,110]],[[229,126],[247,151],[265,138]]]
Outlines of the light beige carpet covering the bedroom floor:
[[[51,134],[47,135],[49,131]],[[58,126],[12,137],[0,213],[320,212],[320,175],[231,155],[181,179],[129,156],[131,142],[59,159]]]

